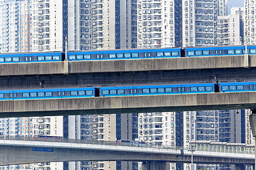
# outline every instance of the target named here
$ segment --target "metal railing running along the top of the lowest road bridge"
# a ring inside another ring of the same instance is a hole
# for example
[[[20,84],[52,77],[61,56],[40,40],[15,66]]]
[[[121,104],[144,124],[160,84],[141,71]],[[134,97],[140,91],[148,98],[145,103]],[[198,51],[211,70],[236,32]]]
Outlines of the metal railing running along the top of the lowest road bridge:
[[[42,141],[42,142],[65,142],[65,143],[85,143],[92,145],[114,145],[114,146],[133,146],[133,147],[150,147],[150,148],[168,148],[174,150],[188,150],[183,146],[170,145],[154,145],[152,143],[142,143],[138,141],[87,141],[81,139],[65,139],[65,138],[39,138],[39,137],[5,137],[0,135],[0,140],[16,140],[16,141]],[[255,154],[254,145],[246,145],[244,143],[226,143],[226,142],[190,142],[189,147],[195,147],[195,151],[207,152],[226,152],[237,154]]]

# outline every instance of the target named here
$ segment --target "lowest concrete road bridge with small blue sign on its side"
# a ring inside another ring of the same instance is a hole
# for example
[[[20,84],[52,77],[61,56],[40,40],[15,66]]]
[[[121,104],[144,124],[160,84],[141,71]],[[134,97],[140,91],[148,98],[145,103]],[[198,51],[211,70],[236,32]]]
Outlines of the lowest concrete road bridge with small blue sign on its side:
[[[164,161],[191,163],[191,152],[171,146],[126,146],[104,141],[0,139],[0,165],[72,161]],[[215,149],[216,150],[216,149]],[[253,153],[193,152],[194,163],[254,164]]]

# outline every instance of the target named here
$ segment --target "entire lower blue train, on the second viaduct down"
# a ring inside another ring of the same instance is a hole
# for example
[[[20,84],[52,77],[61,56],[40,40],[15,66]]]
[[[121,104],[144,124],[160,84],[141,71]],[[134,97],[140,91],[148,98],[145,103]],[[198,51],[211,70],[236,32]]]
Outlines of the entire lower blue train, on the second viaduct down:
[[[141,96],[256,91],[256,82],[172,84],[155,86],[79,87],[0,91],[0,100],[56,99],[72,97]]]

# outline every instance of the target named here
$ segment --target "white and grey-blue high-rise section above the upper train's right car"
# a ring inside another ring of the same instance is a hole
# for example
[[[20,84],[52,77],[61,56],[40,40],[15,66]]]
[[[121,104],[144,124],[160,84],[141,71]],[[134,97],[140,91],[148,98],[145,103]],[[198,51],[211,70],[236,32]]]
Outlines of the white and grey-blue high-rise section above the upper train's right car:
[[[217,16],[226,8],[225,0],[183,1],[183,46],[217,45]]]

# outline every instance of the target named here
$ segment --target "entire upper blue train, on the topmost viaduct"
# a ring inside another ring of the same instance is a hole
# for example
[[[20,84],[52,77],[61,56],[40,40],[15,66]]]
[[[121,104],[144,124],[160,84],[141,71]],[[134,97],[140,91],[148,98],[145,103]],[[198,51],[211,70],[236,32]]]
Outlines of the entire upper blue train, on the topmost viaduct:
[[[188,48],[122,49],[67,52],[69,61],[103,59],[139,59],[170,57],[227,56],[245,53],[245,46],[204,46]],[[256,46],[247,46],[248,54],[256,54]],[[0,54],[0,63],[64,61],[62,52]]]

